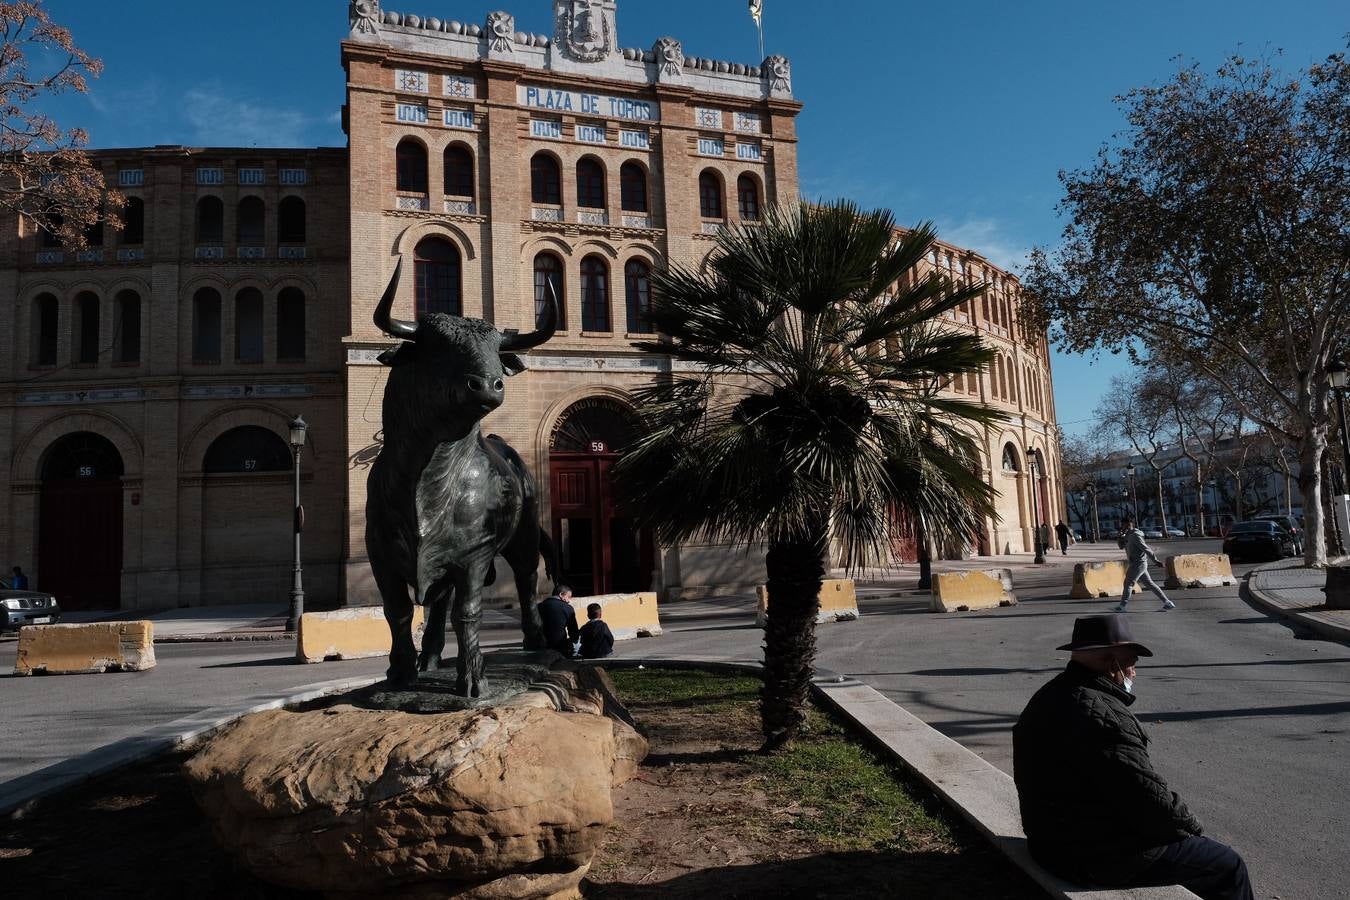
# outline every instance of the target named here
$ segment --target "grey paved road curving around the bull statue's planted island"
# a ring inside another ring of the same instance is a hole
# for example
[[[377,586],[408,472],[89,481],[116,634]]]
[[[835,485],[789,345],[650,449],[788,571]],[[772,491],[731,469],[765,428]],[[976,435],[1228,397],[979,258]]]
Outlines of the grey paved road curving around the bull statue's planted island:
[[[1188,549],[1208,548],[1183,544],[1160,553]],[[926,596],[896,592],[909,587],[909,572],[899,584],[863,592],[860,622],[819,629],[819,664],[872,684],[1010,770],[1008,729],[1066,658],[1053,648],[1068,640],[1076,615],[1110,609],[1106,600],[1064,599],[1062,564],[1072,561],[1054,555],[1042,569],[1022,565],[1017,607],[949,615],[927,613]],[[1134,708],[1154,738],[1158,766],[1210,833],[1247,857],[1258,896],[1350,896],[1350,648],[1300,640],[1256,613],[1237,588],[1176,599],[1173,613],[1154,611],[1152,598],[1130,613],[1137,636],[1157,653],[1141,669]],[[618,654],[759,660],[763,638],[752,610],[748,598],[668,604],[666,636],[622,642]],[[485,638],[517,640],[510,627]],[[0,642],[0,673],[12,671],[14,648]],[[146,673],[0,677],[0,780],[205,706],[383,669],[381,660],[294,665],[286,644],[159,645],[157,654],[159,668]]]

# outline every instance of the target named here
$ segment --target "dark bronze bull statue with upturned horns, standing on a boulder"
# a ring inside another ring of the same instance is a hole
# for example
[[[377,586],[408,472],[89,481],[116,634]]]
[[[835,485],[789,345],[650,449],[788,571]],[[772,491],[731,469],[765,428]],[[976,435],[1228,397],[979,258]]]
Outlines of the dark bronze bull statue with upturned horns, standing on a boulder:
[[[505,376],[525,370],[514,351],[539,347],[558,327],[548,290],[543,327],[502,333],[478,318],[429,313],[417,322],[390,314],[402,260],[375,308],[381,331],[402,343],[381,355],[385,443],[367,482],[366,549],[393,636],[389,680],[408,685],[418,669],[437,669],[446,609],[459,644],[455,692],[486,690],[478,645],[482,590],[501,555],[516,576],[525,649],[543,649],[535,607],[540,546],[539,495],[520,456],[482,418],[502,405]],[[414,596],[408,596],[408,586]],[[428,606],[421,657],[413,645],[413,603]]]

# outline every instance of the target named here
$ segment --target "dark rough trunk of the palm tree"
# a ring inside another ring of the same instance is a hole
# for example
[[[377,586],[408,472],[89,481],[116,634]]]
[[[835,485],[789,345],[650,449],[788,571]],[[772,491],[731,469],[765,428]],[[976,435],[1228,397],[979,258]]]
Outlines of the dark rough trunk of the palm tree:
[[[764,687],[760,719],[772,753],[791,741],[806,719],[815,667],[815,613],[825,579],[824,536],[817,541],[774,544],[768,569],[768,621],[764,626]]]

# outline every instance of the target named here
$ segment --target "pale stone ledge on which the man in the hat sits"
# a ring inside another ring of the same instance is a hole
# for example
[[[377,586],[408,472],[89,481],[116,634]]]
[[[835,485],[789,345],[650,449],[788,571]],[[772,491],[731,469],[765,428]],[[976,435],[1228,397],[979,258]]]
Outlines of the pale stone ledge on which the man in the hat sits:
[[[852,679],[821,679],[811,688],[826,706],[871,733],[891,758],[917,775],[1050,896],[1064,900],[1197,900],[1179,885],[1084,888],[1046,872],[1027,850],[1013,776],[865,684]]]

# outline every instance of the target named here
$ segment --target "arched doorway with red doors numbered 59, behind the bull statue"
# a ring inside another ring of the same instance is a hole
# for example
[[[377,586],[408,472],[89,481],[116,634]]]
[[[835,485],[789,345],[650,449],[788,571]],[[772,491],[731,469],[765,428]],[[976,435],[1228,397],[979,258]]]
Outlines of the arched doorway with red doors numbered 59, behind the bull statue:
[[[558,579],[576,596],[648,591],[656,541],[614,503],[610,472],[630,439],[630,413],[594,397],[567,409],[548,443]]]

